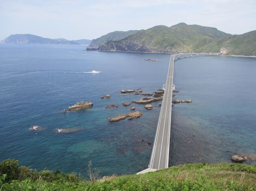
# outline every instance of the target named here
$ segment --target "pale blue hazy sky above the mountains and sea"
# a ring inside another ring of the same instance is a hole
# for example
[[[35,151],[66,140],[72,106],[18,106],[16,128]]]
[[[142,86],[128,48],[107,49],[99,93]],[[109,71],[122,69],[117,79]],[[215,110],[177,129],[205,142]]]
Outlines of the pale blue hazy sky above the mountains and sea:
[[[0,0],[0,40],[12,34],[93,39],[180,22],[243,34],[256,30],[256,0]]]

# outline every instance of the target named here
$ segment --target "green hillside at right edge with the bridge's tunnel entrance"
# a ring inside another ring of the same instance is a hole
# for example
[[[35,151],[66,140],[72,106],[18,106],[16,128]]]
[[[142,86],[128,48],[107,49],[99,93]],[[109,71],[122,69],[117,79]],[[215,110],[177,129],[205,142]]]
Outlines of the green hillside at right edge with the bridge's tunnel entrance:
[[[256,56],[256,31],[242,35],[227,35],[200,47],[196,51],[218,52],[220,50],[229,55]]]

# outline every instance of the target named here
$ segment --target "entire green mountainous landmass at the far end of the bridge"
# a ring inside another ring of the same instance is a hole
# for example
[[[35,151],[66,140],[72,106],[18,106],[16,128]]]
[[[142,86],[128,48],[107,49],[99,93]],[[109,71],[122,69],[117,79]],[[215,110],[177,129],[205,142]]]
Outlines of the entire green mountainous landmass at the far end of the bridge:
[[[120,32],[122,32],[120,35]],[[179,23],[147,30],[115,31],[93,39],[87,50],[152,53],[220,52],[256,56],[256,31],[230,35],[213,27]]]

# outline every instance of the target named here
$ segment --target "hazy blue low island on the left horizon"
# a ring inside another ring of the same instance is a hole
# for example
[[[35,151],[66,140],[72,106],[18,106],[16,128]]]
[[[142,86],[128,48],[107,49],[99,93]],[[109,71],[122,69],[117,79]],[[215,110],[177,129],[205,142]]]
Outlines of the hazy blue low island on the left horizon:
[[[31,35],[31,34],[17,34],[10,35],[0,42],[1,44],[90,44],[91,40],[80,39],[80,40],[67,40],[65,38],[43,38],[41,36]]]

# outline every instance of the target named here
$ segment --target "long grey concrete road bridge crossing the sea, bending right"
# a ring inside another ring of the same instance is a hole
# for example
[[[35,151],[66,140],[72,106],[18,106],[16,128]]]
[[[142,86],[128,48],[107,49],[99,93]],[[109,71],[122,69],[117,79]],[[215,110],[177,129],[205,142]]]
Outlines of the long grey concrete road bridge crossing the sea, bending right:
[[[163,85],[165,93],[161,106],[160,116],[156,129],[156,135],[148,169],[137,174],[156,171],[158,169],[168,168],[169,166],[169,147],[170,147],[170,131],[171,131],[171,114],[172,114],[172,98],[175,85],[173,84],[174,60],[177,57],[181,59],[193,58],[197,56],[217,56],[222,53],[182,53],[171,55],[166,83]]]

